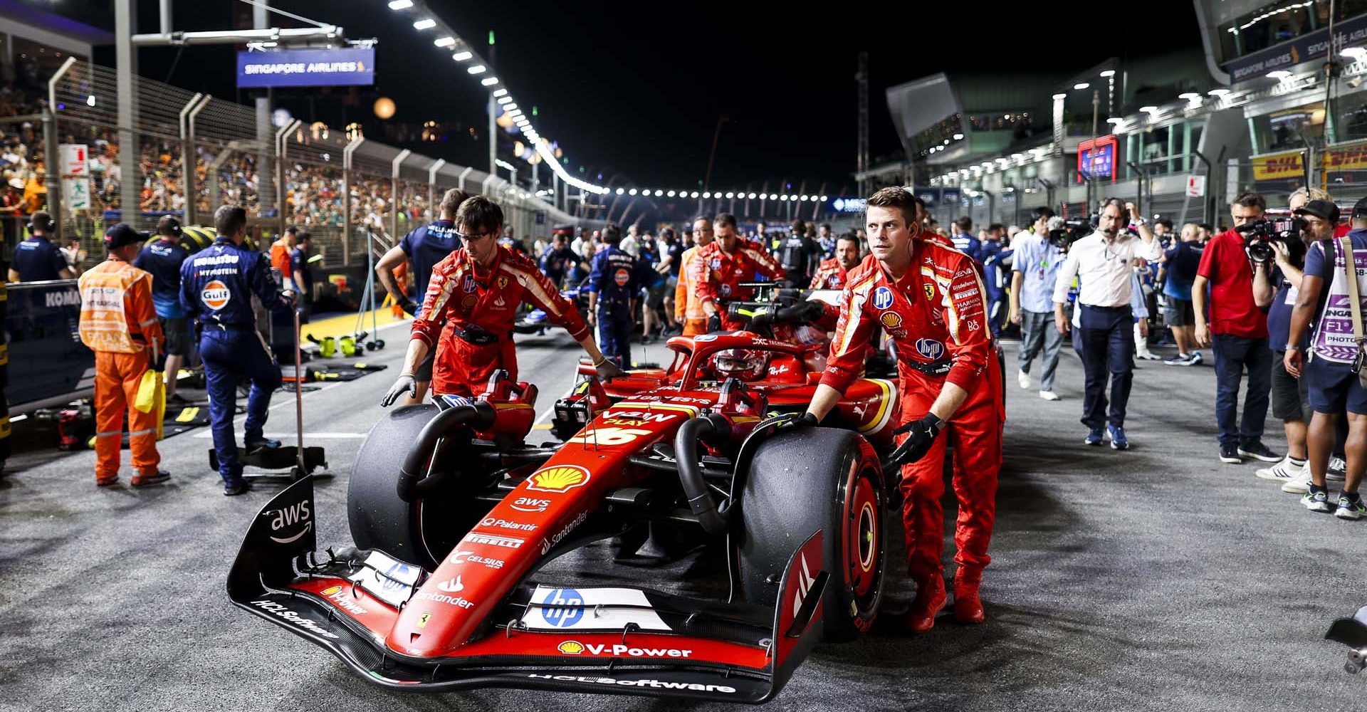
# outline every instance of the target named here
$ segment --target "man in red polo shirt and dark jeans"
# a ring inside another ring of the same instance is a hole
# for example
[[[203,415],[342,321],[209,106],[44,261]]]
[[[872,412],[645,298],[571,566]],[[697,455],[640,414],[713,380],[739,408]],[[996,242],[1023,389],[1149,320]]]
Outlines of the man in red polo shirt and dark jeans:
[[[1244,458],[1278,462],[1281,455],[1263,444],[1263,421],[1273,379],[1273,353],[1267,347],[1267,316],[1254,302],[1254,268],[1271,268],[1273,250],[1267,241],[1277,224],[1263,220],[1267,202],[1256,193],[1244,193],[1229,206],[1234,221],[1211,238],[1200,257],[1192,283],[1196,317],[1196,346],[1215,354],[1215,421],[1219,424],[1219,462],[1240,463]],[[1206,318],[1210,287],[1210,320]],[[1248,370],[1244,420],[1239,421],[1239,381]]]

